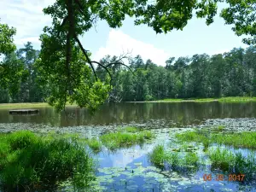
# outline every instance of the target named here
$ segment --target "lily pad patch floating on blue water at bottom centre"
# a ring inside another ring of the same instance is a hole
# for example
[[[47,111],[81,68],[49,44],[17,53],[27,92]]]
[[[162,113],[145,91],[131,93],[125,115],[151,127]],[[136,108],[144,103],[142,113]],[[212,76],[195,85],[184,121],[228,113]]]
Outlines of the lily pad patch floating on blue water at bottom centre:
[[[154,166],[103,167],[98,171],[101,175],[96,178],[96,185],[102,186],[104,191],[172,191],[176,188],[170,184],[174,175],[165,176]]]

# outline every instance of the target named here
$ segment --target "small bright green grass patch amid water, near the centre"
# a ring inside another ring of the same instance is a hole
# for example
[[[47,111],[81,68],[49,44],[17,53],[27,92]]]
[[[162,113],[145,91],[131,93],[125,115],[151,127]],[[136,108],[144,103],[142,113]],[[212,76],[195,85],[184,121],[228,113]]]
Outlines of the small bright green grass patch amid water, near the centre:
[[[134,144],[144,143],[147,139],[153,138],[154,135],[150,131],[132,132],[113,132],[104,134],[100,137],[103,145],[110,150],[117,148],[130,147]]]

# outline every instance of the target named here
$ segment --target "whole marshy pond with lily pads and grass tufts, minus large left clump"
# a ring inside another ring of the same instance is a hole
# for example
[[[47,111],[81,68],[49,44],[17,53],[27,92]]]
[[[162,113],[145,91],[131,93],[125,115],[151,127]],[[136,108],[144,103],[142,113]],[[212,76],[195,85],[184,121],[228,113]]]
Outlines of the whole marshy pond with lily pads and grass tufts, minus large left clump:
[[[38,115],[0,109],[0,131],[76,134],[95,160],[96,191],[256,190],[256,102],[124,102],[93,115],[75,107],[61,114],[38,109]],[[219,174],[227,179],[216,181]],[[245,177],[229,181],[230,174]]]

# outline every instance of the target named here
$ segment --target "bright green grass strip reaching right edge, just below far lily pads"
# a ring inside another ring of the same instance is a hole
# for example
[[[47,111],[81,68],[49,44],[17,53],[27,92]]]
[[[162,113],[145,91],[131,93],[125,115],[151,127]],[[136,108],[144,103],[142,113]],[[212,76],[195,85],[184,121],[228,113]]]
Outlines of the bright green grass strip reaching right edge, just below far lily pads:
[[[217,130],[222,131],[223,126],[218,126]],[[203,143],[205,148],[211,143],[218,143],[233,146],[235,148],[256,148],[256,132],[238,132],[238,133],[208,133],[207,131],[188,131],[177,133],[176,137],[183,142]]]

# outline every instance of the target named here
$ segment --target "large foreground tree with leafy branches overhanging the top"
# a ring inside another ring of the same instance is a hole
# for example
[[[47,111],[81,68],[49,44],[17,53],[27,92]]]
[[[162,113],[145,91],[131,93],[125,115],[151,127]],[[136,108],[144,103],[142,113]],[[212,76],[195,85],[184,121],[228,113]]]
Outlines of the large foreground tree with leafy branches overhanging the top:
[[[53,23],[50,27],[44,27],[44,34],[40,37],[42,51],[37,61],[41,81],[49,84],[49,104],[59,110],[65,108],[66,102],[96,109],[108,96],[111,87],[108,82],[98,79],[93,64],[103,67],[111,78],[108,68],[115,64],[125,65],[124,62],[120,59],[102,66],[98,61],[91,61],[89,51],[79,41],[79,37],[98,19],[106,20],[110,27],[115,28],[122,26],[125,16],[129,15],[136,18],[135,25],[146,24],[156,33],[171,32],[174,29],[183,30],[194,11],[197,17],[206,18],[207,25],[210,25],[217,14],[219,2],[224,1],[56,0],[44,9],[44,14],[50,15]],[[225,2],[230,4],[230,8],[223,9],[221,14],[226,23],[235,25],[233,30],[237,35],[253,37],[244,40],[245,43],[256,44],[254,1]],[[9,36],[12,34],[4,35]],[[177,67],[177,73],[182,72],[185,77],[184,67]],[[83,98],[84,102],[79,98]]]

